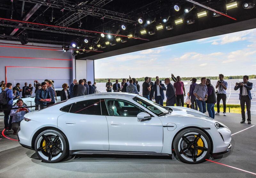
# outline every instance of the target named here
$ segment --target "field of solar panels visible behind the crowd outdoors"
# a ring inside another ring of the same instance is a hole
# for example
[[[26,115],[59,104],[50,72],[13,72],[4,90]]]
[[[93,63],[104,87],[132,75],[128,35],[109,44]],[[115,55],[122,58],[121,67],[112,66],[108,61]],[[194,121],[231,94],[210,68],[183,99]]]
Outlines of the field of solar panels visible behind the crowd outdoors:
[[[211,83],[214,87],[216,86],[217,81],[218,80],[211,80]],[[226,103],[227,104],[240,104],[239,90],[235,91],[234,86],[236,85],[236,82],[243,82],[243,80],[242,79],[231,79],[231,80],[225,80],[225,81],[228,82]],[[253,88],[251,90],[251,93],[252,93],[251,113],[256,115],[256,80],[255,79],[250,79],[249,81],[253,83]],[[184,82],[186,96],[187,96],[187,93],[189,92],[189,87],[190,87],[191,82],[190,81],[182,81],[182,82]],[[139,93],[140,93],[140,95],[142,95],[142,83],[143,82],[138,82],[138,83],[140,85],[140,92]],[[162,83],[164,84],[164,81],[162,81]],[[172,84],[173,83],[174,82],[172,82]],[[200,83],[200,82],[197,82],[197,83]],[[106,83],[97,83],[96,86],[97,86],[97,90],[99,90],[100,92],[106,92],[106,87],[105,87]],[[165,95],[165,91],[164,91],[164,95]],[[186,99],[186,97],[184,97],[184,99]],[[164,101],[166,101],[166,97],[164,98]],[[220,103],[222,103],[222,100],[220,101]]]

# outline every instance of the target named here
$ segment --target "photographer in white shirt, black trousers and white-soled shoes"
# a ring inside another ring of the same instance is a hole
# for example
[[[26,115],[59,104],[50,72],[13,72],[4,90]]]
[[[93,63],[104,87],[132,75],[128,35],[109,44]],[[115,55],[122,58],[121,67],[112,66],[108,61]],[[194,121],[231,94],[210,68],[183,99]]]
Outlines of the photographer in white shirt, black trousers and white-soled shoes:
[[[228,88],[228,82],[224,81],[224,75],[220,74],[219,79],[217,84],[216,84],[216,89],[218,89],[218,94],[217,94],[217,112],[215,115],[220,115],[220,100],[222,99],[223,103],[223,115],[226,115],[226,99],[227,99],[227,88]]]

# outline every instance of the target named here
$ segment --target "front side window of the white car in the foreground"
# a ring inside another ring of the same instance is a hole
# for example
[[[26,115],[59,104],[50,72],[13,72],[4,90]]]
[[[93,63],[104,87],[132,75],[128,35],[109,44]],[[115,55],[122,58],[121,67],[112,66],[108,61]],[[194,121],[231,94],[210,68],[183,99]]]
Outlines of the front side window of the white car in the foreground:
[[[145,112],[138,106],[117,99],[105,99],[109,116],[137,117],[140,112]]]

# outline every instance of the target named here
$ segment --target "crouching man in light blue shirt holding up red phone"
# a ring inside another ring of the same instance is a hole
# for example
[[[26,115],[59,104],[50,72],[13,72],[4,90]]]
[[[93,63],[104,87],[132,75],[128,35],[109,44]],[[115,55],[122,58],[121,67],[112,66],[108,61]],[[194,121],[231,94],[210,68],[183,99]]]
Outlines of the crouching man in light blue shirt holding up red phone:
[[[30,112],[28,108],[22,108],[22,107],[25,107],[25,105],[23,105],[23,100],[18,99],[17,105],[12,107],[17,109],[15,110],[12,109],[10,113],[10,116],[12,116],[12,130],[14,131],[13,135],[16,135],[17,132],[19,132],[20,122],[24,119],[24,115]]]

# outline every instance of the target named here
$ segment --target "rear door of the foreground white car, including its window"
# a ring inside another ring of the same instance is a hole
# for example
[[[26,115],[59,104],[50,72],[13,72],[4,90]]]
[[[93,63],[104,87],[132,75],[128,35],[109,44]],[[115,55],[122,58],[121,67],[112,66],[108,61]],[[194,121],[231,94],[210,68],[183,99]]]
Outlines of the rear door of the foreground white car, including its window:
[[[108,123],[100,105],[100,99],[92,99],[62,108],[67,113],[58,117],[58,128],[67,136],[70,150],[108,151]]]

